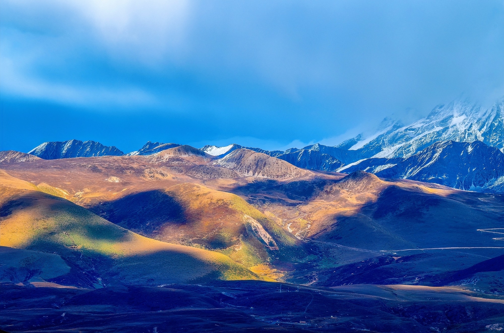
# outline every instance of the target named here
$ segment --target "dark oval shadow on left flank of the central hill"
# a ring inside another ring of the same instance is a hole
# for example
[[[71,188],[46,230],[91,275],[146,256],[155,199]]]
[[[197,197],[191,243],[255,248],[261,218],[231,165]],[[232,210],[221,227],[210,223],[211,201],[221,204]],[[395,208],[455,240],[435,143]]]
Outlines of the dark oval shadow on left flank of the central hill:
[[[184,224],[185,209],[163,190],[127,195],[89,208],[92,212],[126,229],[150,233],[167,222]]]

